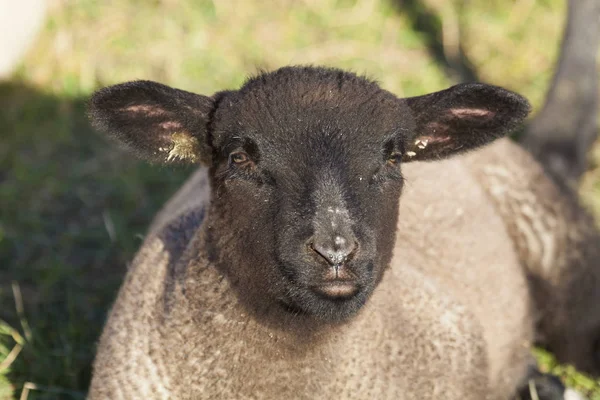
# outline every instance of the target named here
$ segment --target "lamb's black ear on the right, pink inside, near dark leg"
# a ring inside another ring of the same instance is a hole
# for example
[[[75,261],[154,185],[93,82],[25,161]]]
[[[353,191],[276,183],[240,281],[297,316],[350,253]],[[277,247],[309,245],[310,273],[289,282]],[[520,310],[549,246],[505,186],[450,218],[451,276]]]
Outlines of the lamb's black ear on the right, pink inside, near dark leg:
[[[402,161],[435,160],[475,149],[514,130],[527,100],[508,90],[466,83],[405,99],[416,121]]]

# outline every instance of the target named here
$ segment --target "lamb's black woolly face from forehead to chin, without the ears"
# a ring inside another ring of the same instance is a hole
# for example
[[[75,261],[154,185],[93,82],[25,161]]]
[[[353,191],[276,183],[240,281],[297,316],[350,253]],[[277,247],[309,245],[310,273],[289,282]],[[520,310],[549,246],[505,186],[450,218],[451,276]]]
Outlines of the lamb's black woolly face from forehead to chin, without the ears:
[[[212,125],[215,223],[236,232],[223,263],[240,285],[265,269],[265,295],[327,320],[360,309],[390,261],[414,130],[395,97],[352,83],[250,84],[221,98]]]

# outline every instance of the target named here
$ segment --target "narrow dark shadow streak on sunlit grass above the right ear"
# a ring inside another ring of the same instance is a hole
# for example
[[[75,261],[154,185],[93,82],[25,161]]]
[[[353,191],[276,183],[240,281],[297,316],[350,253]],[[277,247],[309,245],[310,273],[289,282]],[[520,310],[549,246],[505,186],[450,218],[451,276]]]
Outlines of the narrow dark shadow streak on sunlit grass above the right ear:
[[[408,16],[412,29],[423,35],[432,59],[450,79],[455,82],[479,81],[475,66],[465,54],[462,43],[458,44],[456,54],[447,54],[444,51],[442,18],[429,10],[427,4],[419,0],[392,0],[392,4],[399,13]],[[460,2],[458,7],[462,9],[463,2]],[[461,9],[458,10],[459,15]]]

